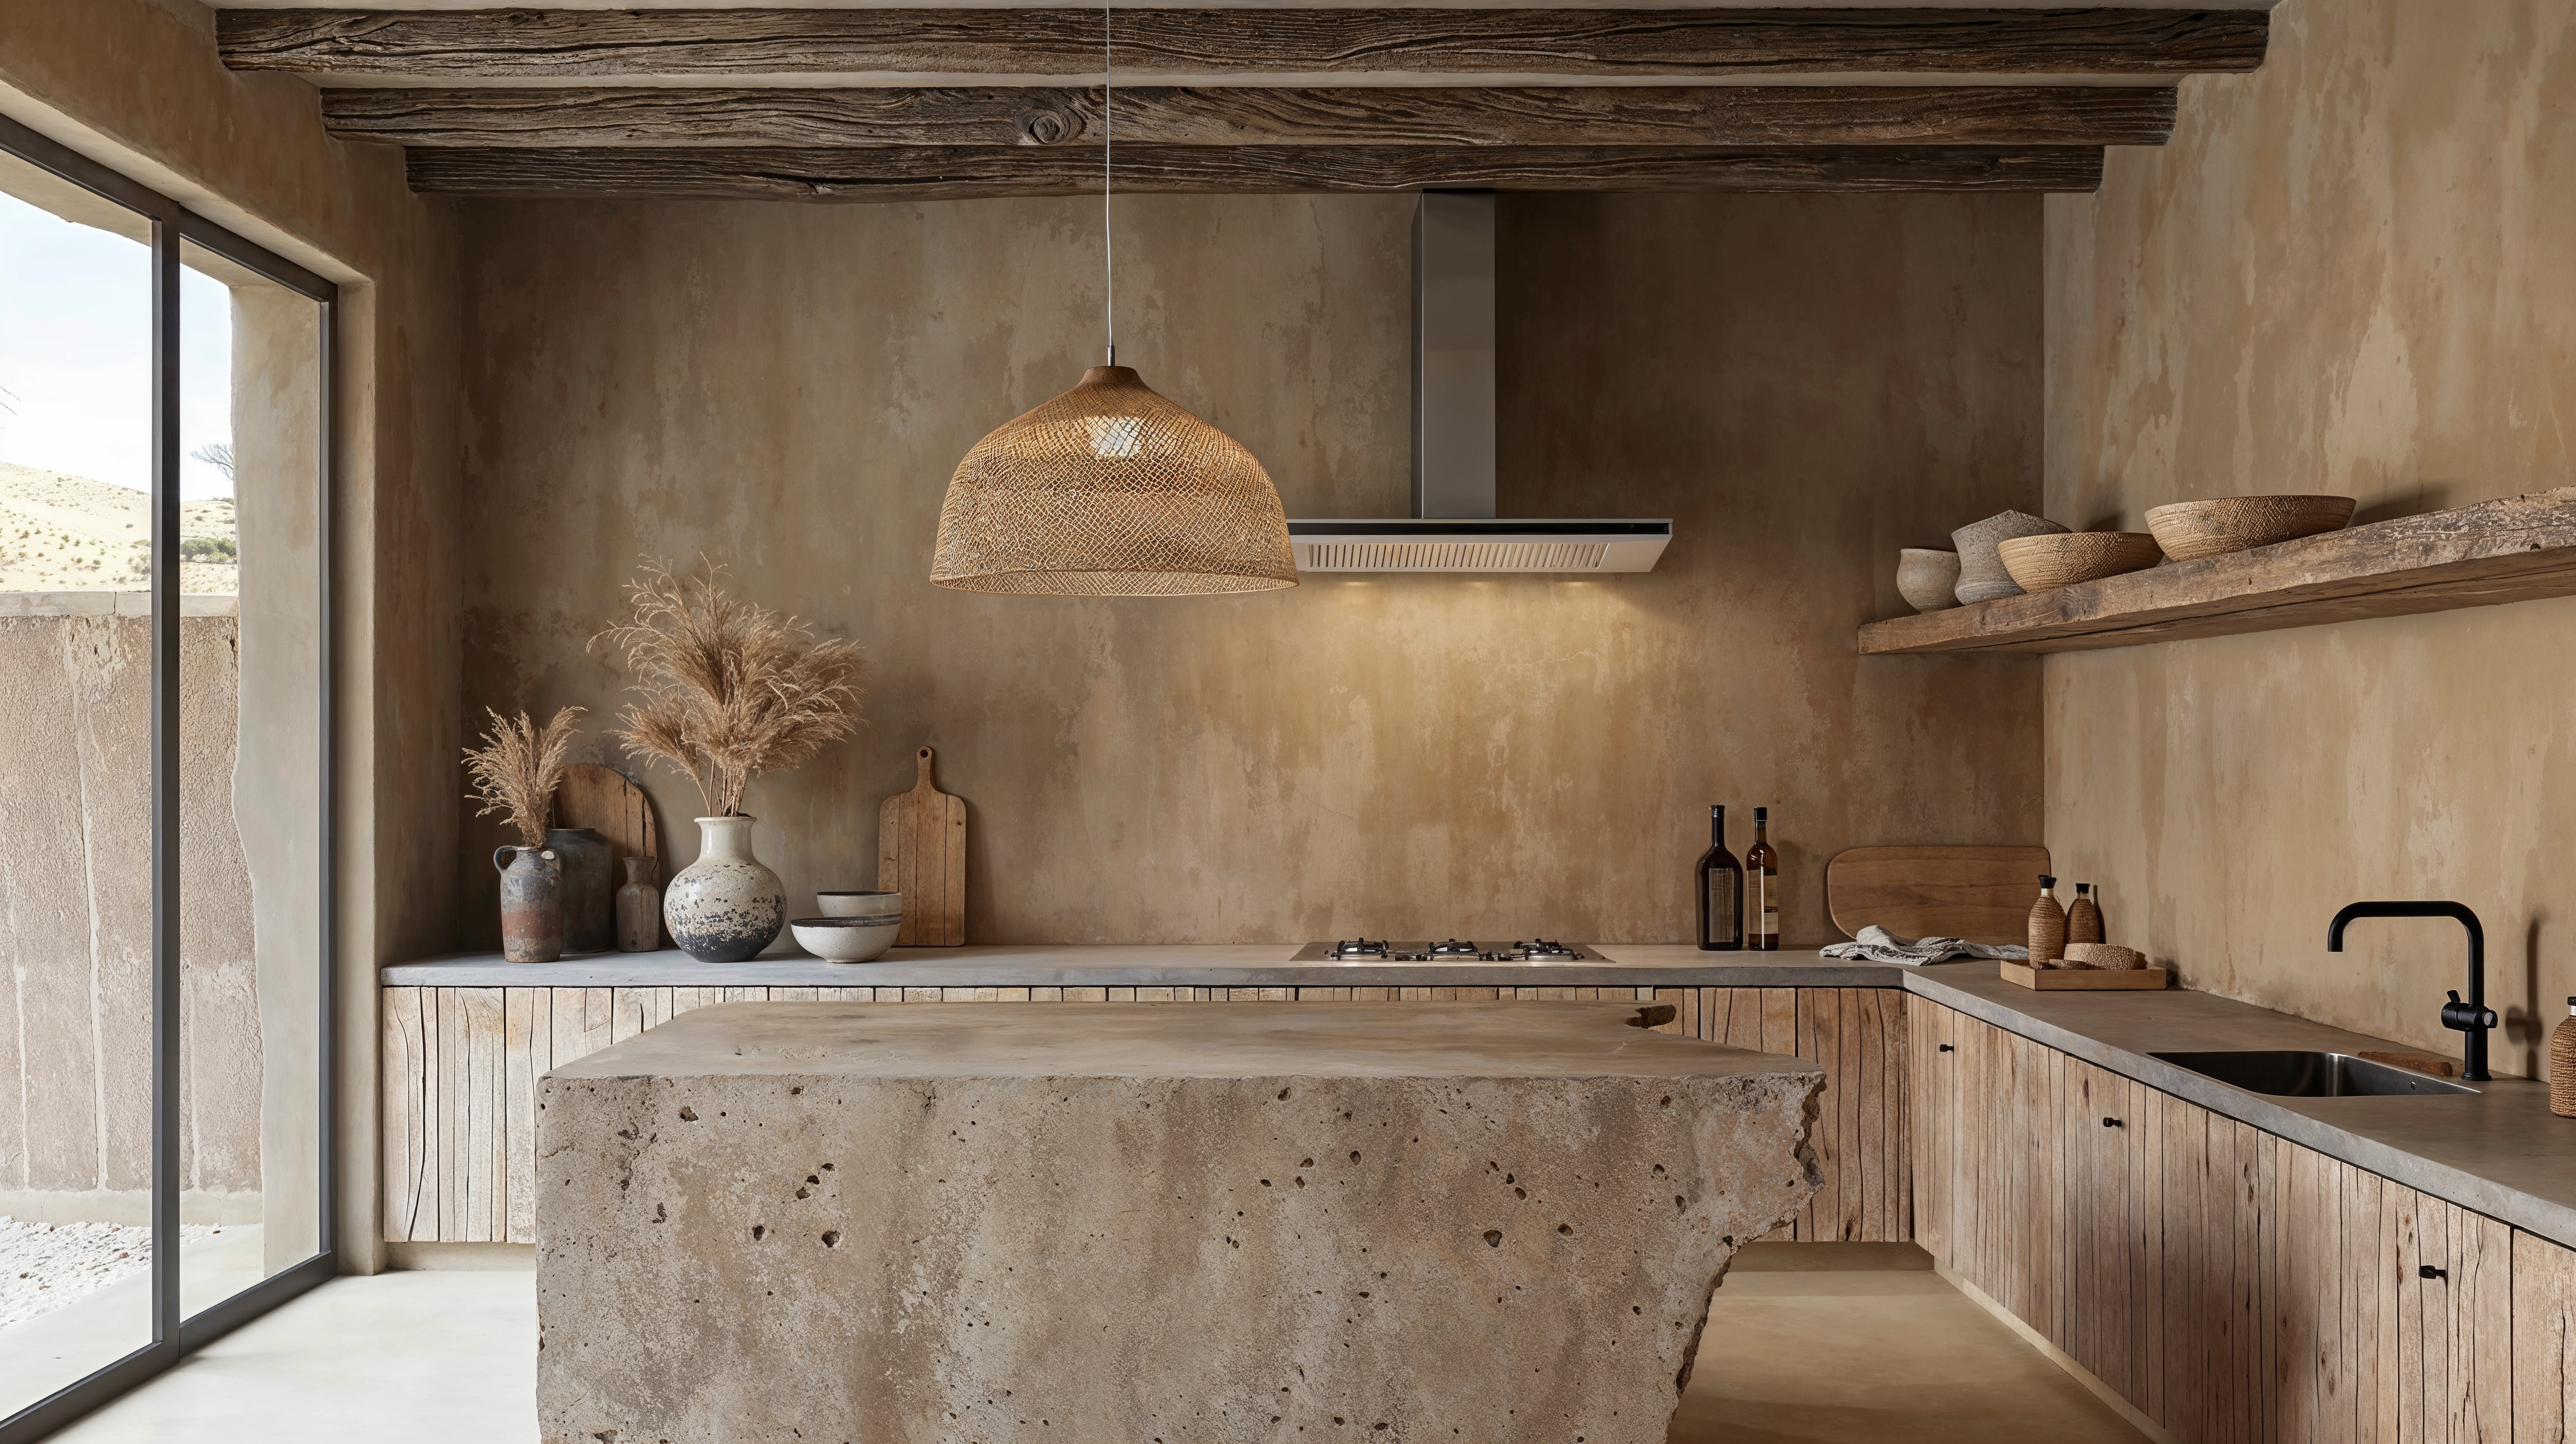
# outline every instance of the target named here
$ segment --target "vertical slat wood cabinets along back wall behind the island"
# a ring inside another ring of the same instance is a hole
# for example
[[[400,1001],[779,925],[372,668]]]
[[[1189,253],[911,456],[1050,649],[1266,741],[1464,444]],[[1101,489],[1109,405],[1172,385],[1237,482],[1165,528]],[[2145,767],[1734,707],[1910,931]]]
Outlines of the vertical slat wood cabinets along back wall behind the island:
[[[1659,1000],[1664,1031],[1826,1070],[1824,1186],[1772,1238],[1914,1238],[1906,995],[1896,988],[386,988],[384,1235],[536,1238],[536,1080],[708,1003]]]

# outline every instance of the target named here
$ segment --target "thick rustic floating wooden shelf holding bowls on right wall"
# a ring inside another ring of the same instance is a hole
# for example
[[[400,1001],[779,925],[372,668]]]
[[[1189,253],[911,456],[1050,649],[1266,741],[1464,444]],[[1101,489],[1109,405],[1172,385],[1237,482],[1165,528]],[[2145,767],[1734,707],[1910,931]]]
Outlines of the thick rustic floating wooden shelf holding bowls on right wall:
[[[1860,652],[2084,652],[2571,593],[2576,487],[2558,487],[1870,621]]]

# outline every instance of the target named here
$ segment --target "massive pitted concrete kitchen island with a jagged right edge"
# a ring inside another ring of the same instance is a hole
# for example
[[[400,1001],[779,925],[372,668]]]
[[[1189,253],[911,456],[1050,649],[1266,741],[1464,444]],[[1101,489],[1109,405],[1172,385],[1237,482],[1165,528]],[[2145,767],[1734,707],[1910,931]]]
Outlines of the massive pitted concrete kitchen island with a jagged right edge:
[[[1824,1075],[1656,1016],[672,1019],[541,1083],[544,1436],[1659,1444]]]

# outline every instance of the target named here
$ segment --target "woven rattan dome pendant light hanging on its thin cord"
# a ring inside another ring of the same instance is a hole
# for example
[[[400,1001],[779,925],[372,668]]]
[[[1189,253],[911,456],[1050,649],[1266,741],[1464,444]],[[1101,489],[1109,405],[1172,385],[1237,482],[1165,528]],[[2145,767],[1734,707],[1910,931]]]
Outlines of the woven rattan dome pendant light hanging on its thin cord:
[[[1108,18],[1100,46],[1108,57]],[[1103,98],[1108,90],[1103,88]],[[1108,250],[1108,106],[1100,229]],[[948,477],[930,580],[1046,596],[1208,596],[1296,585],[1288,513],[1239,441],[1118,364],[1110,250],[1108,366],[976,441]]]

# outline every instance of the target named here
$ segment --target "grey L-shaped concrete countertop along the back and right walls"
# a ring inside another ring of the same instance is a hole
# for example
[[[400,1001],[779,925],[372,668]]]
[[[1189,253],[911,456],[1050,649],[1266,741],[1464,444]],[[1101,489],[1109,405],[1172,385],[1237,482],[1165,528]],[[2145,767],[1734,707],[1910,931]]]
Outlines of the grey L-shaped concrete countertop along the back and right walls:
[[[1904,988],[1973,1019],[2081,1057],[2148,1088],[2287,1137],[2576,1248],[2576,1119],[2548,1109],[2548,1086],[2481,1083],[2481,1093],[2406,1098],[2275,1098],[2202,1078],[2156,1052],[2329,1049],[2424,1052],[2213,993],[2032,993],[1991,962],[1891,967],[1816,951],[1708,954],[1687,944],[1592,944],[1607,964],[1334,964],[1288,962],[1296,944],[1257,946],[963,946],[894,949],[871,964],[762,957],[703,964],[680,951],[513,964],[461,954],[381,970],[389,988]],[[2432,1011],[2439,998],[2427,998]]]

